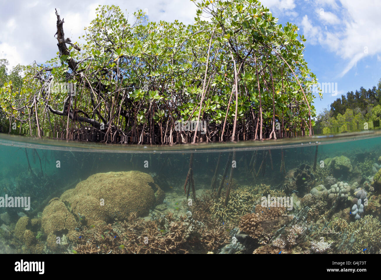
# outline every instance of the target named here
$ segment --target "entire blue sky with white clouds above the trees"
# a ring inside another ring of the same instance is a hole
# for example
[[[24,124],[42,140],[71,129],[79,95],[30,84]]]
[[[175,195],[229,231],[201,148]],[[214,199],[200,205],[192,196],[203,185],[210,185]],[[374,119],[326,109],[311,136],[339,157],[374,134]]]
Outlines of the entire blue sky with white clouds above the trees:
[[[380,0],[263,0],[280,24],[299,27],[307,42],[304,57],[320,83],[337,83],[338,94],[323,93],[315,100],[317,112],[341,94],[377,85],[381,78]],[[59,8],[65,19],[66,37],[72,41],[95,18],[99,5],[118,5],[132,14],[147,12],[150,21],[178,19],[191,24],[195,5],[189,0],[98,0],[50,2],[0,0],[0,58],[10,67],[43,62],[56,56],[56,17]],[[81,41],[79,41],[82,43]]]

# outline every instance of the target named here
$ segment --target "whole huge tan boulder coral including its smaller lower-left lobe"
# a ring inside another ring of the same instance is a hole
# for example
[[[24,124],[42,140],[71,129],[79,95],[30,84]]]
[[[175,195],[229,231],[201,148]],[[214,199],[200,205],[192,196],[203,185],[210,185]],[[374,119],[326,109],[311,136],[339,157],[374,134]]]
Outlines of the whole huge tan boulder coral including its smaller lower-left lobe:
[[[43,212],[42,227],[49,234],[74,230],[84,220],[88,226],[97,226],[115,219],[125,220],[132,211],[144,216],[164,198],[163,190],[149,174],[97,173],[66,190],[59,200],[51,201]]]

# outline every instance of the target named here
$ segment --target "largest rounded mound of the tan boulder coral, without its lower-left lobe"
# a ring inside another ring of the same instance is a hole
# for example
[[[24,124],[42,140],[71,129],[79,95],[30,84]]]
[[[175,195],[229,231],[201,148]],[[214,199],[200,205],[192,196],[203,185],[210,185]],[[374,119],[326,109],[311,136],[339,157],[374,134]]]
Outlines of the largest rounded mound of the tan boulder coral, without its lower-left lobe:
[[[90,226],[115,218],[125,220],[133,211],[144,216],[164,198],[152,177],[139,171],[94,174],[61,195],[73,213],[84,216]]]

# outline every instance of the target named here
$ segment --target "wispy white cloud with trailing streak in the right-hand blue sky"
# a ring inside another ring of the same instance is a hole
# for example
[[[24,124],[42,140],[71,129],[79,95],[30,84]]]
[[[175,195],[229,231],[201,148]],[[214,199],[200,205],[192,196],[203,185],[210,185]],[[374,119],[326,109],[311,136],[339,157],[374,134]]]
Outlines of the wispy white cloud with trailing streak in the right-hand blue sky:
[[[338,75],[343,77],[360,59],[381,53],[381,1],[371,0],[367,5],[358,5],[351,0],[339,2],[340,9],[334,0],[309,2],[315,5],[315,19],[309,19],[306,15],[301,21],[301,26],[307,43],[319,43],[347,61]],[[335,13],[340,14],[340,19],[336,14],[327,11],[327,8],[322,8],[324,6],[335,9]]]

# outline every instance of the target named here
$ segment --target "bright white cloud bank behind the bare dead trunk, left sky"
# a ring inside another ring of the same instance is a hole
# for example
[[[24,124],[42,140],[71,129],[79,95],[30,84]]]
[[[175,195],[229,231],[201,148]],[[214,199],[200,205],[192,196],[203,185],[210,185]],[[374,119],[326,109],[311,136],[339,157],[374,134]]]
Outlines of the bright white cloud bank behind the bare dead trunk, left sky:
[[[83,28],[96,17],[95,8],[99,4],[110,5],[107,0],[97,0],[95,3],[91,0],[52,0],[43,5],[27,0],[19,1],[17,5],[11,1],[2,3],[0,57],[8,59],[10,69],[17,64],[27,65],[34,60],[43,63],[53,58],[58,51],[57,39],[53,37],[57,31],[54,8],[60,9],[61,18],[65,20],[65,37],[81,42],[78,37],[84,34]],[[135,11],[148,9],[150,21],[178,19],[184,24],[193,23],[196,11],[195,4],[188,0],[114,0],[113,4],[127,11],[131,19]]]

